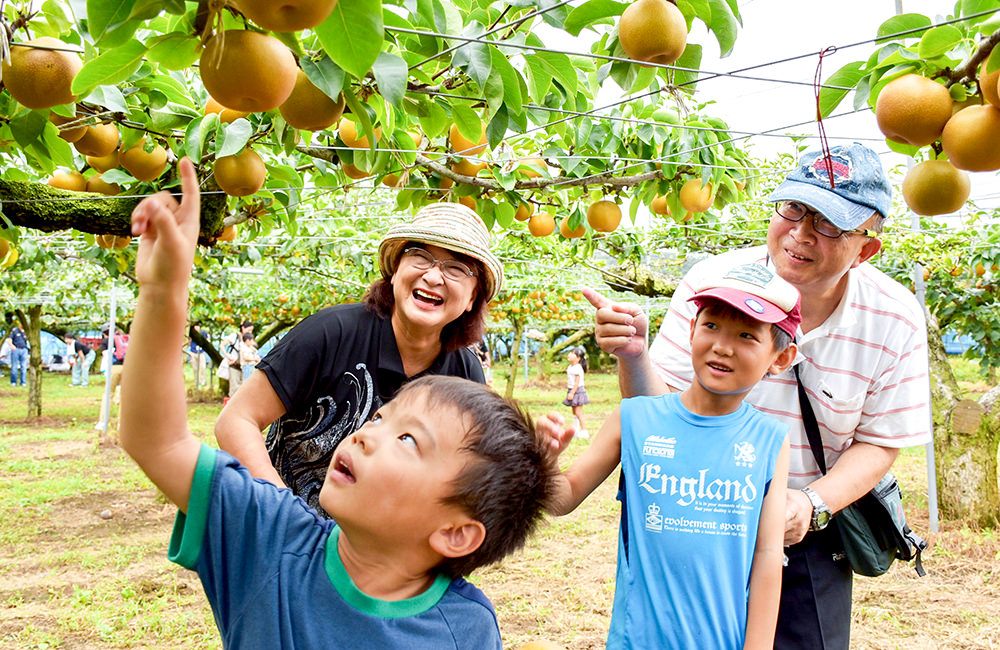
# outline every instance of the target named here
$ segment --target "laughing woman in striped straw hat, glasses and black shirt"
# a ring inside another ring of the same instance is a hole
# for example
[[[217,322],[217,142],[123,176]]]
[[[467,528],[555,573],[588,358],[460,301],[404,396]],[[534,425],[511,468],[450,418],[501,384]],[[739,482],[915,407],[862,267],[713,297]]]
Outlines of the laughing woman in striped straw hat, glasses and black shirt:
[[[479,216],[458,203],[421,208],[386,233],[379,267],[362,304],[294,327],[215,425],[219,445],[254,476],[290,487],[319,512],[334,448],[404,383],[426,374],[485,383],[467,346],[482,337],[503,267]]]

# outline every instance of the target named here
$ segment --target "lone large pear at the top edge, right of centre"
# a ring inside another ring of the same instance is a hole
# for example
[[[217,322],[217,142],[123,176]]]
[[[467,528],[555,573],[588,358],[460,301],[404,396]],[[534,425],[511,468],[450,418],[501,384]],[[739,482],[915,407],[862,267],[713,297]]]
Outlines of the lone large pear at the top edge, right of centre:
[[[622,12],[618,42],[630,59],[669,65],[687,46],[687,21],[668,0],[637,0]]]

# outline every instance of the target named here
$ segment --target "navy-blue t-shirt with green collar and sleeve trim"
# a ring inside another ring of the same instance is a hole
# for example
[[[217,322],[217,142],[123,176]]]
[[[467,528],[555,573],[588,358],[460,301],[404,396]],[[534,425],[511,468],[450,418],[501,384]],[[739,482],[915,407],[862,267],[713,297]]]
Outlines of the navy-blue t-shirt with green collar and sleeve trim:
[[[482,591],[439,576],[407,600],[372,598],[344,569],[339,534],[290,490],[203,446],[169,557],[198,572],[224,648],[502,649]]]

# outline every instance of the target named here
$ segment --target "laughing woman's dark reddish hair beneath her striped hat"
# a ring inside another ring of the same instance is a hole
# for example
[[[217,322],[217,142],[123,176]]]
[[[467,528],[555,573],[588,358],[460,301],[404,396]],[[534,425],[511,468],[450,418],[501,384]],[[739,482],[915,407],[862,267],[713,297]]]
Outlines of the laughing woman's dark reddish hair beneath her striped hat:
[[[423,246],[421,242],[407,242],[399,247],[400,255],[411,245]],[[450,251],[455,255],[455,259],[464,264],[468,264],[476,273],[476,299],[472,303],[472,309],[463,311],[462,315],[444,326],[441,331],[441,348],[445,352],[454,352],[462,348],[467,348],[482,340],[486,331],[486,316],[489,313],[490,305],[486,302],[486,269],[482,262],[474,257],[463,255],[455,251]],[[393,260],[393,269],[398,268],[399,257]],[[365,307],[379,318],[389,319],[392,317],[392,308],[395,305],[395,298],[392,295],[392,283],[390,278],[379,278],[368,287],[365,297],[362,298]]]

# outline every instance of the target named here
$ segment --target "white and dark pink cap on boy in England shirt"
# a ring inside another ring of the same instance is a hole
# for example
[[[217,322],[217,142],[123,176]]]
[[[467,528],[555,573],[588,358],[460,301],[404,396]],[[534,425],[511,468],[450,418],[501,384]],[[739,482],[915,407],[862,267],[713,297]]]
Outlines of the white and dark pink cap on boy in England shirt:
[[[793,339],[802,322],[799,290],[762,264],[741,264],[721,275],[705,277],[688,300],[700,308],[706,298],[721,300],[754,320],[777,325]]]

